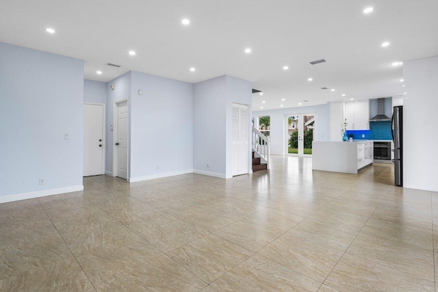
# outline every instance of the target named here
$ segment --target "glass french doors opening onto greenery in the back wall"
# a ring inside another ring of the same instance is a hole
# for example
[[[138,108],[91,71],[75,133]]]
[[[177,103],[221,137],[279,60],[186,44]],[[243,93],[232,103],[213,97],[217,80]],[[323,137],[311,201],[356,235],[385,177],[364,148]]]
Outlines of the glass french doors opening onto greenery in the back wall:
[[[315,114],[285,116],[285,154],[307,156],[312,154],[316,132]]]

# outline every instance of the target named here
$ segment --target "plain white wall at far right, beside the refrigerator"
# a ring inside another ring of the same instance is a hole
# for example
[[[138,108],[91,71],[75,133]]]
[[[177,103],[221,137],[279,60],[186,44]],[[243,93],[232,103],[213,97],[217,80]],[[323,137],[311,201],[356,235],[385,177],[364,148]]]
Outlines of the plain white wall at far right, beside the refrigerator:
[[[438,191],[438,56],[403,64],[403,186]]]

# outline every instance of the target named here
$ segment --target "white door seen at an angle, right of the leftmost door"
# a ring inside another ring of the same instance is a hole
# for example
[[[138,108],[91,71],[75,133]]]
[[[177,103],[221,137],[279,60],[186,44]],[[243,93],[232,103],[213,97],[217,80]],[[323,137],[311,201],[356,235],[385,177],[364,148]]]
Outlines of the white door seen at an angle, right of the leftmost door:
[[[116,176],[127,179],[128,177],[128,103],[117,104],[117,174]]]

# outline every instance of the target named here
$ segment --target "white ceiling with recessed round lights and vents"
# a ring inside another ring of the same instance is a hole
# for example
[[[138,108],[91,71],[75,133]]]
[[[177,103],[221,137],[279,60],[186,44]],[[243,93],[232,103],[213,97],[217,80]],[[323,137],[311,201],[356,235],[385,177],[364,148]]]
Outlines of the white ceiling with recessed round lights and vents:
[[[263,91],[255,110],[273,109],[403,94],[391,63],[438,55],[437,14],[437,0],[1,0],[0,42],[84,59],[97,81],[129,70],[192,83],[232,75]]]

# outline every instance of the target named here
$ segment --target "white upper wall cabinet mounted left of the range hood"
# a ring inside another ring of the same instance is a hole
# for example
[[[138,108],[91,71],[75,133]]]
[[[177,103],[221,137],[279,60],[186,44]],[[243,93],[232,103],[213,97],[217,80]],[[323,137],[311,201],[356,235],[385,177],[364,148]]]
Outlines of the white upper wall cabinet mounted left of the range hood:
[[[345,118],[347,130],[369,130],[370,116],[369,101],[348,101],[345,103]]]

